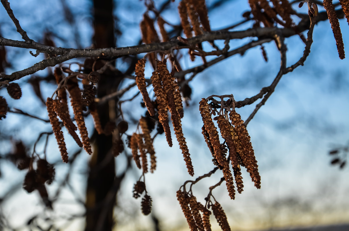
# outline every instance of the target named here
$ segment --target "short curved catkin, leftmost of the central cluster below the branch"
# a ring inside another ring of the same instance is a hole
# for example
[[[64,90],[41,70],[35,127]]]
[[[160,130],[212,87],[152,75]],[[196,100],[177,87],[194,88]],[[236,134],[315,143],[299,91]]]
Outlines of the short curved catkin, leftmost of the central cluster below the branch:
[[[151,102],[148,91],[146,88],[146,79],[144,78],[144,67],[146,65],[145,59],[138,60],[136,67],[135,67],[135,74],[136,74],[136,84],[139,89],[139,91],[142,94],[143,101],[146,104],[146,107],[148,109],[148,112],[151,116],[155,115],[154,105]]]

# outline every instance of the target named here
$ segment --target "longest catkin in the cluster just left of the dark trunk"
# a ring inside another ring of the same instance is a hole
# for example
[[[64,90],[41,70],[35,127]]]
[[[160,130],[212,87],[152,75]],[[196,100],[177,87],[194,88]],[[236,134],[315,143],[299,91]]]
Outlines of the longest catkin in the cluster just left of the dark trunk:
[[[74,118],[77,124],[77,127],[80,131],[80,137],[85,151],[91,155],[91,144],[90,139],[88,137],[87,129],[85,126],[84,117],[82,114],[82,102],[81,102],[81,92],[79,89],[79,85],[77,85],[76,77],[70,78],[68,83],[68,91],[70,94],[70,103],[72,104],[74,111]]]

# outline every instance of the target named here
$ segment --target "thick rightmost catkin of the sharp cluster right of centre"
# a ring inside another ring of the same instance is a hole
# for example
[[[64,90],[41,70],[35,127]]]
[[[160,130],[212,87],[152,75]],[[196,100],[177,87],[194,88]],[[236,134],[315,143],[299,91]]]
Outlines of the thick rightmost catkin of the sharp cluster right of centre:
[[[246,166],[247,172],[250,173],[254,186],[260,188],[261,178],[258,172],[258,165],[244,121],[241,120],[240,115],[236,111],[231,111],[229,117],[232,125],[234,125],[234,131],[238,135],[239,141],[236,142],[237,152]]]

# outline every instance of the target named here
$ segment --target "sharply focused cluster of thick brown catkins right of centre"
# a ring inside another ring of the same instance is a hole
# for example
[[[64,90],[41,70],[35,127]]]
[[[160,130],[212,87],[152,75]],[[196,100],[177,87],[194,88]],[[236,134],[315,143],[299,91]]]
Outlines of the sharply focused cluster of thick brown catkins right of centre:
[[[217,128],[211,118],[211,108],[205,98],[202,98],[200,101],[199,109],[204,124],[202,127],[202,134],[214,157],[213,161],[216,162],[218,168],[223,171],[230,198],[235,199],[235,189],[229,162],[227,162],[222,144],[219,140]],[[225,140],[225,144],[229,149],[229,160],[235,176],[237,190],[241,193],[244,186],[240,166],[246,167],[255,187],[260,188],[261,181],[258,165],[244,121],[241,120],[240,115],[235,110],[229,113],[229,119],[230,121],[222,114],[214,118],[214,120],[217,121],[222,138]]]

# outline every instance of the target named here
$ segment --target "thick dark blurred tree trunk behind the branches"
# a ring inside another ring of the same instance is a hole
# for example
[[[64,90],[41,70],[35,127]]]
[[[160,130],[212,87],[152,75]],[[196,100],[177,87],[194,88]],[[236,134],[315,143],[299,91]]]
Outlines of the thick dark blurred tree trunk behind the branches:
[[[93,16],[95,48],[114,47],[116,38],[114,38],[113,1],[93,0]],[[102,62],[97,61],[95,64],[96,69],[102,66]],[[97,97],[110,94],[112,89],[118,87],[120,79],[121,77],[118,78],[112,71],[106,71],[97,84]],[[109,121],[115,121],[116,100],[97,106],[102,128]],[[113,228],[113,208],[116,201],[116,192],[112,192],[115,180],[115,163],[111,153],[112,136],[98,135],[95,131],[93,137],[94,153],[90,162],[86,192],[86,231],[109,231]]]

